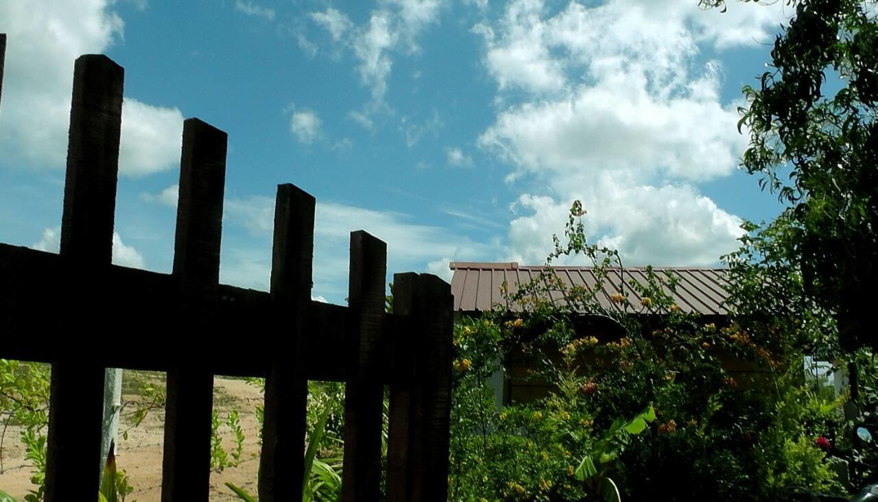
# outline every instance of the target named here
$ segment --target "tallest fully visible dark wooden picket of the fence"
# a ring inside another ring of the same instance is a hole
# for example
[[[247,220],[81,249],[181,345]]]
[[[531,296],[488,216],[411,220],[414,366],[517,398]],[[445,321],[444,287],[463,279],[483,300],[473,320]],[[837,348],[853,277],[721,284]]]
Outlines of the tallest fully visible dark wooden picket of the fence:
[[[125,70],[99,54],[76,60],[61,217],[61,261],[68,295],[68,334],[84,330],[107,335],[96,326],[100,298],[112,262],[113,218],[119,172],[119,135]],[[63,337],[65,333],[61,333]],[[94,335],[94,334],[93,334]],[[59,339],[61,339],[59,337]],[[46,463],[46,500],[67,500],[77,493],[97,498],[104,367],[68,338],[52,364]],[[68,355],[71,354],[71,355]],[[76,354],[76,355],[73,355]]]

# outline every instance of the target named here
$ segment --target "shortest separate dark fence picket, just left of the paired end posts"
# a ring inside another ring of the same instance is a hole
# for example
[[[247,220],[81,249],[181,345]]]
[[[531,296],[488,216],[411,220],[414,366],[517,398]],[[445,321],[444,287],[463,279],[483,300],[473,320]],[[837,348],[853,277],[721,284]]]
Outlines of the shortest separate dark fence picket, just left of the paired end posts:
[[[363,231],[350,233],[344,398],[344,502],[378,502],[384,384],[380,347],[385,320],[387,245]]]

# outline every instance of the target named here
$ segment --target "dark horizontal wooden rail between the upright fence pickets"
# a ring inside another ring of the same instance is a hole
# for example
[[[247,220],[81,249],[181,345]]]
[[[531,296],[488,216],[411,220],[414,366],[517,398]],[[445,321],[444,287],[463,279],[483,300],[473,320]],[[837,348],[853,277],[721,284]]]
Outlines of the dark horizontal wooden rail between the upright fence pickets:
[[[40,319],[36,329],[47,341],[38,345],[28,337],[4,337],[0,357],[52,362],[62,353],[59,344],[61,333],[67,329],[66,320],[60,315],[45,315],[61,312],[67,305],[61,290],[61,269],[58,255],[0,244],[0,333],[33,333],[33,319]],[[166,347],[179,340],[178,333],[168,329],[168,319],[191,315],[182,308],[174,277],[113,265],[107,290],[112,295],[96,300],[96,304],[102,305],[108,325],[124,323],[131,336],[112,346],[95,347],[94,357],[110,368],[167,371]],[[72,295],[81,296],[76,292]],[[344,360],[336,354],[347,338],[348,307],[311,301],[308,311],[305,331],[309,333],[308,350],[312,356],[306,358],[306,377],[343,382]],[[220,284],[219,309],[210,327],[218,342],[201,347],[203,352],[191,360],[191,365],[219,375],[265,377],[270,362],[265,359],[263,345],[238,344],[235,357],[230,358],[225,342],[240,341],[241,333],[267,333],[270,326],[275,326],[270,315],[269,293]],[[278,329],[289,331],[290,323],[281,319]],[[143,344],[144,336],[152,342]]]

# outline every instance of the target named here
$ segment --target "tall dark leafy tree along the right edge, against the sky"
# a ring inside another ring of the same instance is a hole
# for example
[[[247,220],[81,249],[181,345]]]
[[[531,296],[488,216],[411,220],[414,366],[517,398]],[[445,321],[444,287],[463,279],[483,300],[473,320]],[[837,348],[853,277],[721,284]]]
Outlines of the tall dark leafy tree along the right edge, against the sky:
[[[744,88],[738,128],[750,145],[742,166],[788,204],[788,258],[808,295],[835,313],[842,345],[875,348],[868,317],[878,283],[878,2],[788,4],[795,17],[774,41],[771,69],[758,87]]]

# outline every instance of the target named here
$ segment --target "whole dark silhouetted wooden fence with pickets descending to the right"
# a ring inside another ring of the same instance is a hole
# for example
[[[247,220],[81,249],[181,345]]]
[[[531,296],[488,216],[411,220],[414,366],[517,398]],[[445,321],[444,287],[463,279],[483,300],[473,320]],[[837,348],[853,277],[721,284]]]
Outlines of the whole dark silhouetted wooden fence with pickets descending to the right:
[[[2,58],[0,58],[2,61]],[[2,68],[2,66],[0,66]],[[342,499],[447,497],[452,297],[350,236],[349,306],[311,299],[314,198],[277,187],[270,293],[219,284],[227,134],[184,122],[173,272],[111,264],[124,69],[76,60],[61,252],[0,244],[0,357],[52,363],[46,499],[96,500],[104,368],[168,374],[162,500],[206,501],[214,374],[265,377],[259,499],[301,499],[307,380],[346,383]],[[88,494],[88,496],[87,496]]]

